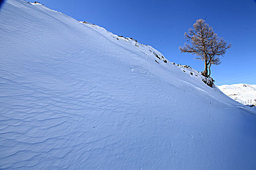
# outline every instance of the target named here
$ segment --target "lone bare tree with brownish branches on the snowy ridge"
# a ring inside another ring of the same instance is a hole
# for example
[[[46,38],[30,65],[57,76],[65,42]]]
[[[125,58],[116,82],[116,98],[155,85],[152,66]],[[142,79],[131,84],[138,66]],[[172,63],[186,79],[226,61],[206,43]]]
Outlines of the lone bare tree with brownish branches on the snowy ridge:
[[[189,29],[185,33],[185,39],[189,44],[185,43],[183,47],[179,47],[181,52],[195,54],[195,59],[204,60],[204,71],[202,74],[205,77],[211,75],[211,65],[219,65],[219,56],[224,56],[226,50],[231,47],[223,38],[219,38],[203,19],[197,19],[193,25],[194,29]],[[209,71],[208,71],[209,68]]]

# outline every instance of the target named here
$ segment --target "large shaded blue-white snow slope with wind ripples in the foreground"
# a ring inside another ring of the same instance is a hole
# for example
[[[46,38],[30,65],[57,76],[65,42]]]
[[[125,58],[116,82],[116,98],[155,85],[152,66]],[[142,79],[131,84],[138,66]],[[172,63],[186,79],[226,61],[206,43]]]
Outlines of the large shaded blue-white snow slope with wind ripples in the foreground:
[[[0,51],[0,169],[256,169],[255,110],[150,46],[6,0]]]

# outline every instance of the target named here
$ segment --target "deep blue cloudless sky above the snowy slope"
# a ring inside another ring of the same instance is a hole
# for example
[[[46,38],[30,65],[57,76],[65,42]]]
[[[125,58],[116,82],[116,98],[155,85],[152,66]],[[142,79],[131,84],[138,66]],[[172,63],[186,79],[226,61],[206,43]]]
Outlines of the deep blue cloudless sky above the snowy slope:
[[[153,46],[168,60],[202,71],[204,63],[178,50],[198,18],[232,44],[212,66],[217,85],[256,84],[255,0],[39,0],[45,6]]]

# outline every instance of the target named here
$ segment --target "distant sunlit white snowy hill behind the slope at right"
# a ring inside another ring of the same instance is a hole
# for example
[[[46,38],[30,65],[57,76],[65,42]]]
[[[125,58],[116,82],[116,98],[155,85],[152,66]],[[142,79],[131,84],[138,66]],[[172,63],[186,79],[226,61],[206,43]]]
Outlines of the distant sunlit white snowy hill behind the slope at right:
[[[253,104],[256,100],[256,85],[220,85],[218,88],[227,96],[242,104]]]

